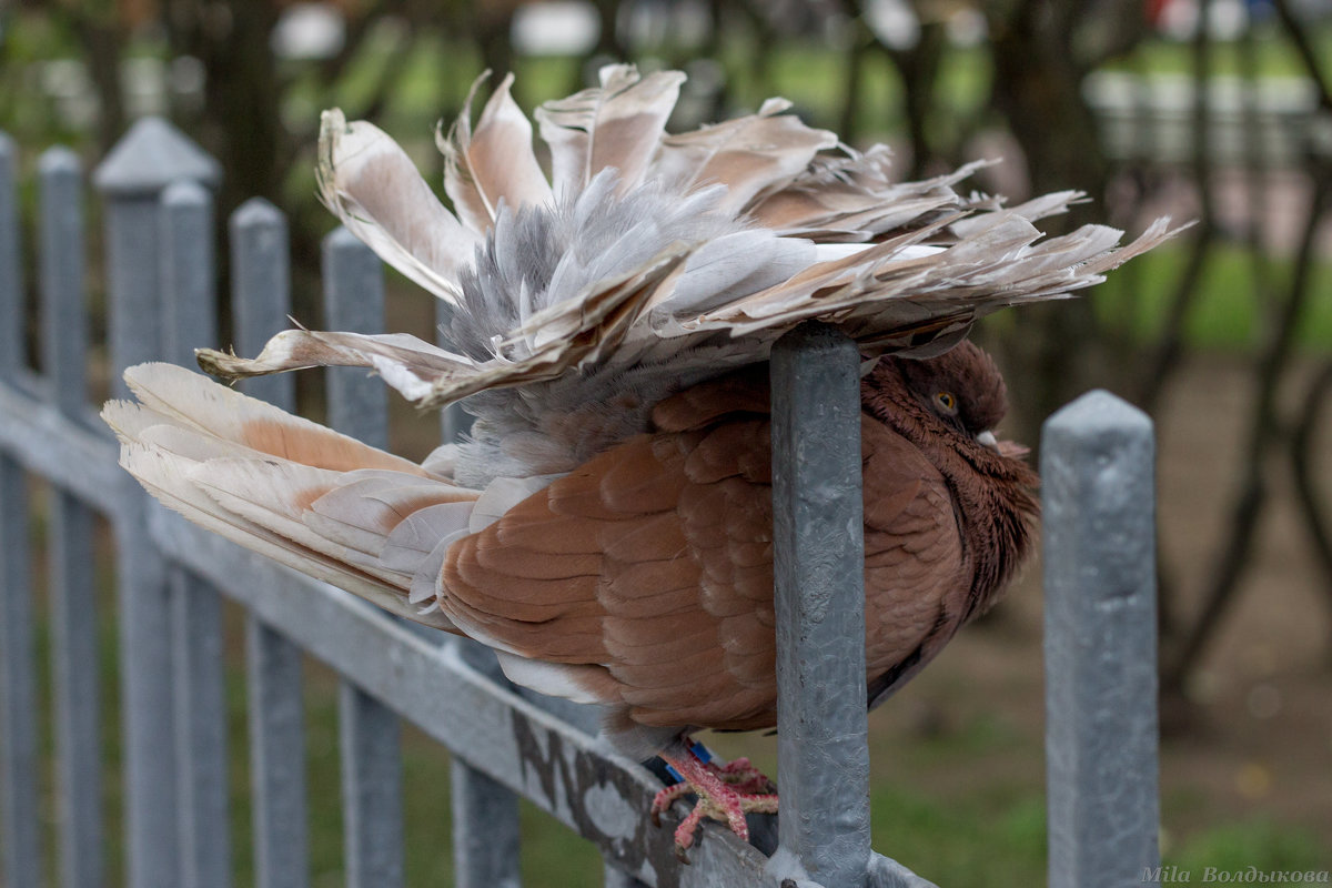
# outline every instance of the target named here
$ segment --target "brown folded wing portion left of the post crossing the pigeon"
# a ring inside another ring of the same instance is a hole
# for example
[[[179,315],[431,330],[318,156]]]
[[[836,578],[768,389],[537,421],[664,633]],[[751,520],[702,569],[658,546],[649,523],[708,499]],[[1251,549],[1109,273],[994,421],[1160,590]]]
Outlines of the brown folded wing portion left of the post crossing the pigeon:
[[[613,447],[454,543],[441,606],[538,691],[639,724],[767,723],[771,495],[743,467],[766,429]]]

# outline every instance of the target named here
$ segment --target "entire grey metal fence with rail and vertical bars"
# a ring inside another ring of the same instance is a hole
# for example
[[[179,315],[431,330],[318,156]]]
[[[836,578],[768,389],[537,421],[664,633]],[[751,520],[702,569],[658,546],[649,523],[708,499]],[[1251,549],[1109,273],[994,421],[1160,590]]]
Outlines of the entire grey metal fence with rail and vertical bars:
[[[308,883],[301,659],[340,676],[346,881],[404,884],[406,720],[453,754],[456,884],[517,885],[517,797],[591,840],[605,884],[920,888],[870,849],[863,591],[858,526],[855,349],[827,330],[774,357],[775,545],[781,730],[779,849],[771,857],[710,824],[678,864],[671,831],[646,812],[655,779],[591,732],[594,714],[502,682],[476,646],[422,634],[352,596],[280,568],[152,503],[116,466],[87,397],[83,172],[67,149],[39,168],[40,366],[29,369],[20,269],[16,148],[0,134],[0,852],[4,885],[99,885],[104,754],[93,607],[93,522],[117,563],[124,833],[132,888],[221,888],[233,877],[224,706],[222,598],[246,612],[252,836],[257,884]],[[209,188],[216,162],[169,125],[144,120],[97,168],[105,224],[107,326],[120,369],[192,363],[217,342]],[[236,346],[256,353],[288,325],[281,213],[250,201],[229,220]],[[378,261],[345,230],[324,241],[333,329],[382,322]],[[333,370],[329,418],[386,441],[385,393]],[[293,379],[246,390],[290,409]],[[817,442],[817,447],[793,446]],[[1094,393],[1047,423],[1046,652],[1050,884],[1140,884],[1158,865],[1154,491],[1150,421]],[[57,873],[39,823],[36,616],[29,477],[45,479],[51,602],[51,732]],[[838,495],[827,497],[827,490]],[[823,491],[823,493],[821,493]],[[831,529],[831,530],[830,530]],[[839,558],[825,555],[839,547]],[[826,619],[827,608],[846,619]],[[859,627],[859,628],[858,628]]]

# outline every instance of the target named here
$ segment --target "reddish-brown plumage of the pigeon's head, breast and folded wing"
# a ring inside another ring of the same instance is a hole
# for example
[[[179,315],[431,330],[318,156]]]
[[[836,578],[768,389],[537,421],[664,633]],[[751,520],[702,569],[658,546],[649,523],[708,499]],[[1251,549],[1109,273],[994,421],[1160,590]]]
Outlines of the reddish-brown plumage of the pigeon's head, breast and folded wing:
[[[765,371],[669,398],[651,431],[454,543],[444,612],[522,656],[577,666],[626,731],[775,726]],[[984,610],[1028,550],[1035,474],[975,439],[1003,398],[971,343],[883,359],[862,383],[871,703]]]

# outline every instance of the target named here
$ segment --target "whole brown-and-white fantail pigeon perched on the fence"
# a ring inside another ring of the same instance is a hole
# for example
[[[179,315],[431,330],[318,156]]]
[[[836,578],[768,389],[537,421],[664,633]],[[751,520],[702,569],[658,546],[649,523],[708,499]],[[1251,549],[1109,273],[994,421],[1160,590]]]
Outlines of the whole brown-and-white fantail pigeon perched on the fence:
[[[1035,474],[998,442],[1004,386],[963,341],[1006,305],[1056,298],[1169,234],[1032,222],[1075,192],[1004,209],[894,182],[770,100],[667,134],[683,75],[603,68],[535,112],[494,91],[438,144],[446,209],[404,150],[326,112],[320,189],[386,262],[452,306],[449,349],[406,334],[288,330],[236,378],[374,369],[418,405],[466,397],[470,437],[422,465],[168,365],[127,371],[103,415],[121,465],[200,525],[404,616],[496,650],[517,683],[605,707],[626,754],[661,754],[703,815],[745,835],[766,780],[698,763],[694,728],[777,720],[771,343],[809,318],[866,361],[870,703],[983,610],[1027,554]],[[478,81],[480,83],[480,81]],[[663,791],[658,805],[679,791]]]

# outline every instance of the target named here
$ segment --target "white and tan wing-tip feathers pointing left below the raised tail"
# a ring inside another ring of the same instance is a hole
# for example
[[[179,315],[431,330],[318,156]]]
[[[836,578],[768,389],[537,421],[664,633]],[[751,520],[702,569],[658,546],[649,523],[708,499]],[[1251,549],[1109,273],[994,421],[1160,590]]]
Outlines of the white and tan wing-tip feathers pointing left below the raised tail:
[[[139,403],[111,401],[103,418],[121,465],[157,499],[390,612],[454,630],[421,604],[437,590],[441,542],[468,533],[478,491],[181,367],[139,365],[125,378]]]

